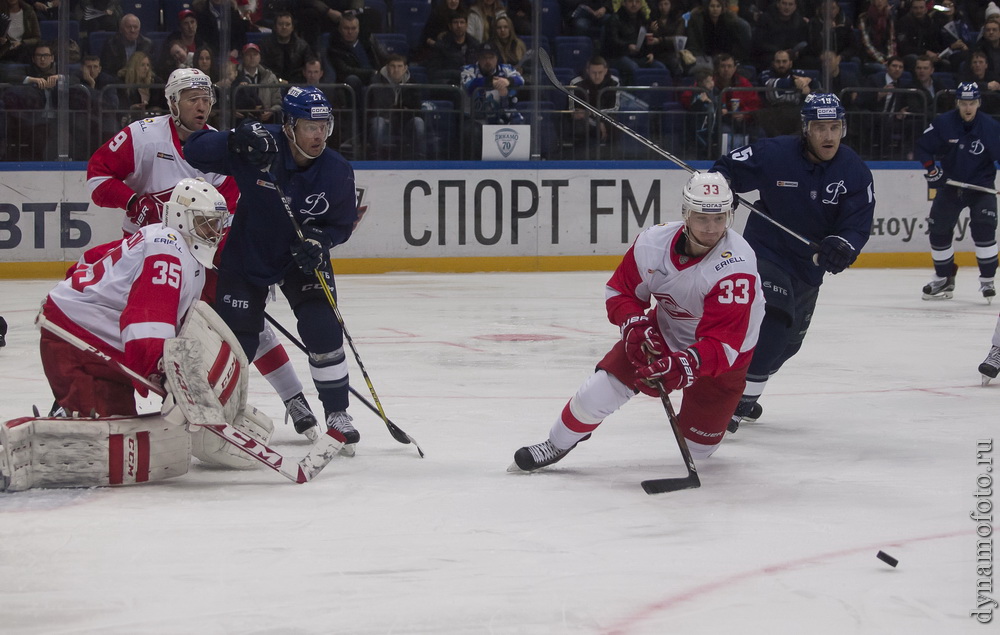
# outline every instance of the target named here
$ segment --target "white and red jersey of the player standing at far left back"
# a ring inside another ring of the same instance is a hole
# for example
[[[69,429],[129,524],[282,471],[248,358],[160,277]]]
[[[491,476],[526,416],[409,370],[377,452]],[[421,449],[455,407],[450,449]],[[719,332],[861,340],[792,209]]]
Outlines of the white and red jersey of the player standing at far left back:
[[[206,130],[214,130],[205,126]],[[133,194],[153,194],[166,203],[174,186],[184,178],[203,178],[236,211],[240,192],[231,176],[196,170],[184,159],[180,137],[170,115],[134,121],[97,149],[87,163],[87,189],[101,207],[126,209]],[[158,219],[154,219],[158,221]],[[126,216],[125,235],[139,227]]]

